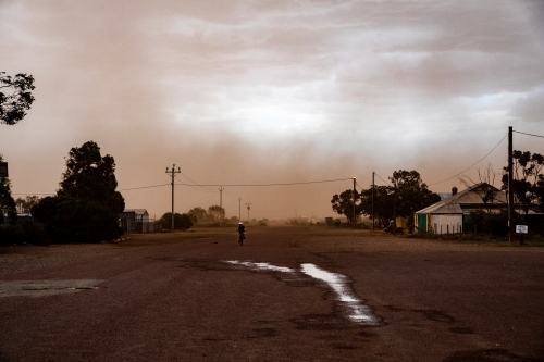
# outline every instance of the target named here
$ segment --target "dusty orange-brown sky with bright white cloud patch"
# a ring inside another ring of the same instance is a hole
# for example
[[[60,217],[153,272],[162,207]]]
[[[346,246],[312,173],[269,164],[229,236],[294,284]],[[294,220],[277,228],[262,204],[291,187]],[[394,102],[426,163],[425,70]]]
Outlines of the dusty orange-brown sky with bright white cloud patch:
[[[14,197],[54,194],[94,140],[151,216],[171,210],[173,164],[176,212],[335,216],[351,177],[462,189],[456,175],[506,165],[508,126],[544,135],[536,0],[0,0],[0,71],[36,79],[26,117],[0,124]]]

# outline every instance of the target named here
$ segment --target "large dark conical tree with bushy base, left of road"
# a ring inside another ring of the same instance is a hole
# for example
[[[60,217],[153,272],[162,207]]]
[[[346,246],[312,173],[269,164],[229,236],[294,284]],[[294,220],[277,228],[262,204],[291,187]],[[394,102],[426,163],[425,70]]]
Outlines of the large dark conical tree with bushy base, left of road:
[[[123,234],[119,212],[124,199],[115,191],[115,162],[100,155],[94,141],[72,148],[62,174],[61,188],[30,209],[33,216],[46,224],[49,236],[61,242],[97,242]]]

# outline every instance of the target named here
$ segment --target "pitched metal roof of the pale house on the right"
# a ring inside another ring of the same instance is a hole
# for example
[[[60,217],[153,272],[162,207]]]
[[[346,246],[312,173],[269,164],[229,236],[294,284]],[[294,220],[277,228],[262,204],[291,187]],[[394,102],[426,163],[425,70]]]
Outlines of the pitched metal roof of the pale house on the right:
[[[438,201],[423,210],[416,211],[417,214],[462,214],[462,205],[463,204],[481,204],[482,209],[486,207],[486,204],[482,201],[482,196],[485,192],[485,188],[492,188],[495,190],[495,200],[493,200],[493,204],[506,204],[506,192],[500,191],[496,187],[480,183],[475,184],[472,187],[469,187],[447,199]],[[487,203],[490,204],[490,203]]]

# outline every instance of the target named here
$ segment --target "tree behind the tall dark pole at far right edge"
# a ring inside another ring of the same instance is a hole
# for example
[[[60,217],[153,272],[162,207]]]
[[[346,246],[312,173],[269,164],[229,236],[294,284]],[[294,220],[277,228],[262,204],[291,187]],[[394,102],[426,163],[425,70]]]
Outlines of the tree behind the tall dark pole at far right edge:
[[[514,179],[510,190],[514,192],[516,202],[521,203],[524,214],[529,214],[529,208],[533,202],[542,207],[544,176],[541,171],[544,167],[544,157],[539,153],[515,150]],[[508,167],[504,167],[503,190],[508,190]]]

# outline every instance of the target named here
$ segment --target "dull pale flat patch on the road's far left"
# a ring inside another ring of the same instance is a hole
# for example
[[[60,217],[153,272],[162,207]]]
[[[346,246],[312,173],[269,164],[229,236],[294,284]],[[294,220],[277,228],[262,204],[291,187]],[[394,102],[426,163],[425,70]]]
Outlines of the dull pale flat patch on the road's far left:
[[[98,289],[100,279],[0,282],[0,297],[45,297]]]

